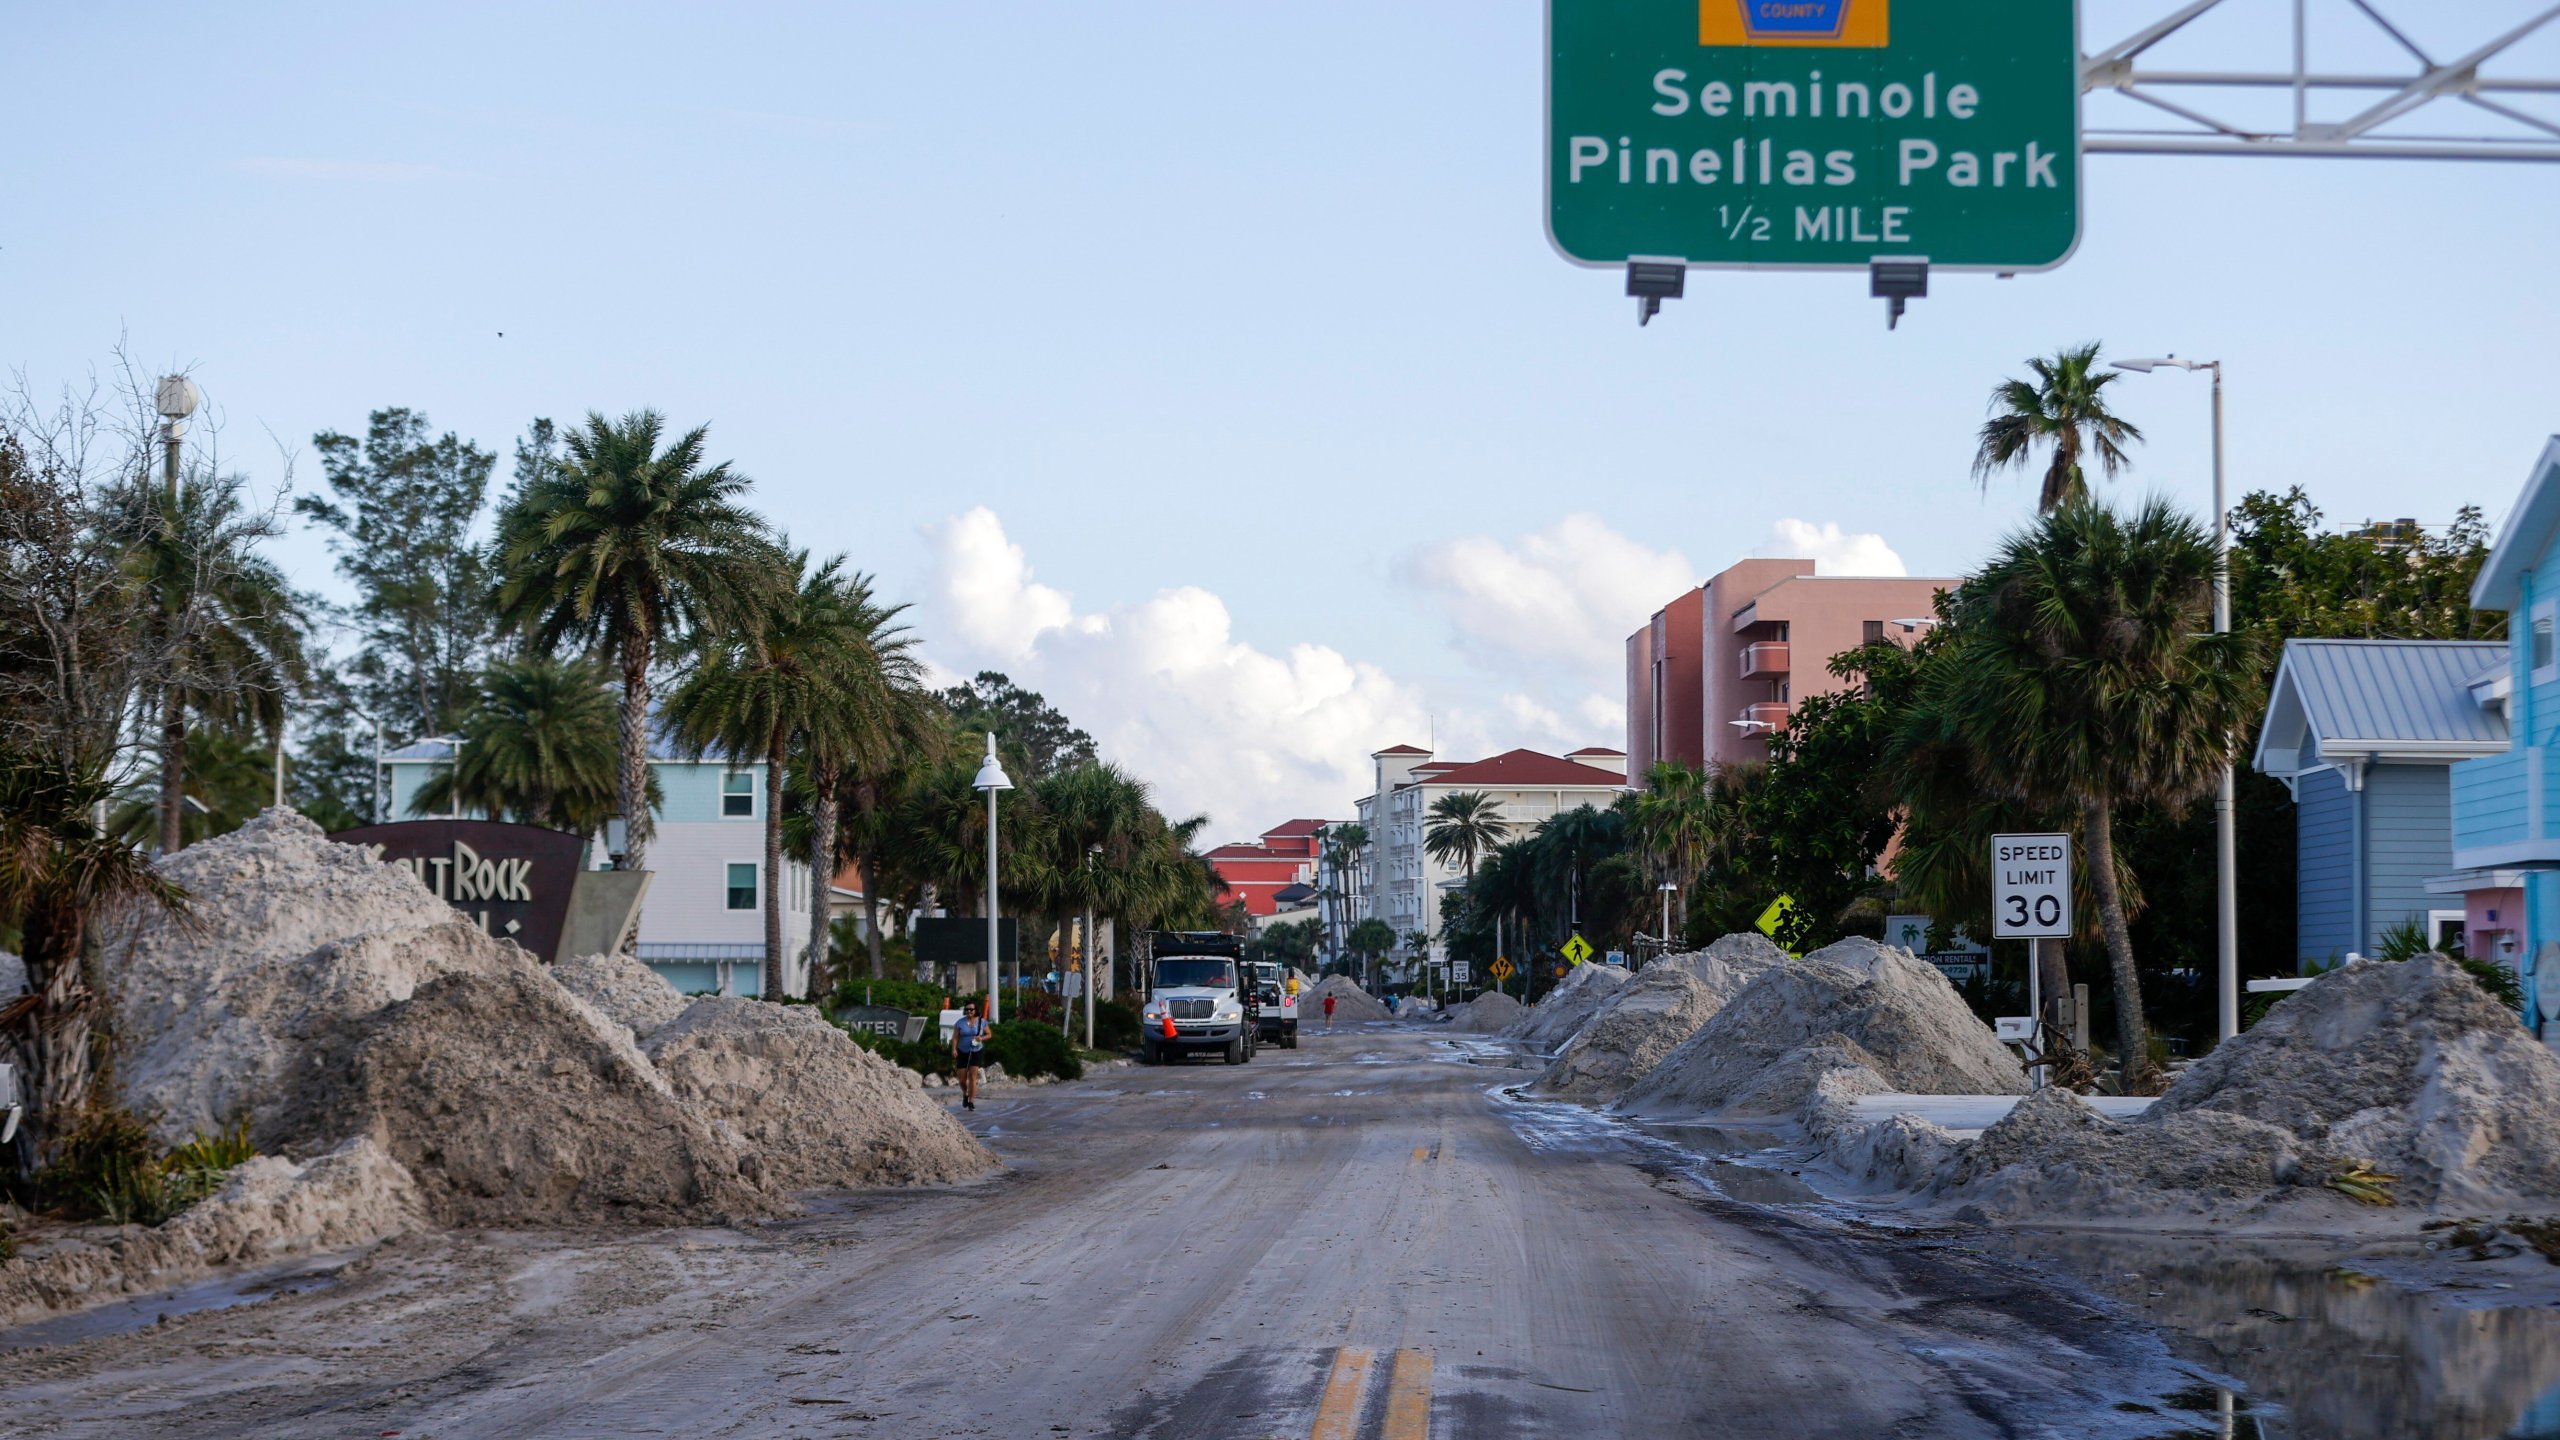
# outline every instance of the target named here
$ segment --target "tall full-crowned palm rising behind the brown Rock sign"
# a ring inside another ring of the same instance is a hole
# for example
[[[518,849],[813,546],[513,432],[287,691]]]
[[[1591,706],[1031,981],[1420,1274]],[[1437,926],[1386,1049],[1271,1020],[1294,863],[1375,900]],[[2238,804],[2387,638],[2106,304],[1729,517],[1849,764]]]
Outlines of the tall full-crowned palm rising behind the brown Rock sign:
[[[704,425],[660,448],[666,420],[589,413],[566,459],[499,512],[497,607],[535,648],[579,641],[622,671],[622,869],[648,869],[650,666],[694,630],[742,628],[773,589],[773,543],[740,505],[748,477],[704,464]]]

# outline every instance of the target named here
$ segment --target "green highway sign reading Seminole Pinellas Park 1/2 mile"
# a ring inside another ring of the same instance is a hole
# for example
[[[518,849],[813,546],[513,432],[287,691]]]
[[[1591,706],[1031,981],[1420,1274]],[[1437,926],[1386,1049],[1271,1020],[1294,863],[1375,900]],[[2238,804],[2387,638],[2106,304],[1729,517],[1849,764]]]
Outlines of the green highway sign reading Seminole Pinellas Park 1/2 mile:
[[[2068,0],[1549,0],[1546,233],[1577,264],[2051,269]]]

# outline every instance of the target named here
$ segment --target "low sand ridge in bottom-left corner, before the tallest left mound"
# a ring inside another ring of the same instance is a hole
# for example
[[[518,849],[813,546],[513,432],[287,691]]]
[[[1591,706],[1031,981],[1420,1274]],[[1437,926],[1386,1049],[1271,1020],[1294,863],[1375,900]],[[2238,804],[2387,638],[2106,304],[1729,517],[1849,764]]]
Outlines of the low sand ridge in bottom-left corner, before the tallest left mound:
[[[0,1268],[0,1325],[192,1281],[220,1266],[369,1245],[420,1225],[417,1181],[371,1140],[348,1140],[302,1166],[259,1156],[159,1230],[41,1253],[33,1243]]]

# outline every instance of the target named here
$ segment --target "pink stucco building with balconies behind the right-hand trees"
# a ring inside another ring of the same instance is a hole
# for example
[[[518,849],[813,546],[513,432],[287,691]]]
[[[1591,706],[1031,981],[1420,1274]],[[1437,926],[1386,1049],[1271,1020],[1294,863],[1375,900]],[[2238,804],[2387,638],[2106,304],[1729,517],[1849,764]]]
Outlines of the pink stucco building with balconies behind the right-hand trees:
[[[1953,579],[1812,574],[1812,561],[1738,561],[1672,600],[1626,638],[1626,756],[1644,784],[1656,758],[1759,761],[1797,700],[1841,682],[1830,656],[1910,641]]]

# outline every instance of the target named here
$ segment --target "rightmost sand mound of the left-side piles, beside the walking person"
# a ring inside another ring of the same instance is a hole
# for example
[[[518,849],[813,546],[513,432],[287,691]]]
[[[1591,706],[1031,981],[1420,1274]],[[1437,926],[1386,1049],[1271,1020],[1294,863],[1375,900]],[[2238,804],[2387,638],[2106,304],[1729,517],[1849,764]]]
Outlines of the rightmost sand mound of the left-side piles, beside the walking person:
[[[696,999],[648,1053],[681,1099],[748,1148],[765,1189],[940,1184],[996,1168],[906,1071],[806,1004]]]

